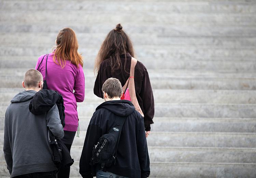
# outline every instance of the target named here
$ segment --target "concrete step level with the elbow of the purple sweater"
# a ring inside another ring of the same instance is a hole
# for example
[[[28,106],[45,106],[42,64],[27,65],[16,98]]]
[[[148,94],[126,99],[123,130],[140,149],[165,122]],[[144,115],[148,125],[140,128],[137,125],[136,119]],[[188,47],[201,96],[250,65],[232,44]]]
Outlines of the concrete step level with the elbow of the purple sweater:
[[[9,102],[24,88],[0,88],[0,101]],[[255,90],[165,90],[154,89],[155,103],[227,103],[256,104]],[[86,88],[85,103],[102,102],[93,88]]]

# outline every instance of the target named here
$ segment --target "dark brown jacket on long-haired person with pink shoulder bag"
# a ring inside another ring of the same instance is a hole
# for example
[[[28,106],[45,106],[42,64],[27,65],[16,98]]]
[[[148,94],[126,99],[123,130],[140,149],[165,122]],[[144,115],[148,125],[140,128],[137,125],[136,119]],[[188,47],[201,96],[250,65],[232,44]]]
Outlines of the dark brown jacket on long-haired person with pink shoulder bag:
[[[117,78],[121,82],[122,86],[125,85],[125,82],[127,81],[130,75],[129,72],[131,67],[131,55],[127,53],[126,57],[127,57],[127,62],[125,65],[125,55],[123,54],[120,56],[120,59],[122,61],[122,70],[118,69],[115,71],[115,73],[111,73],[110,59],[106,59],[101,63],[99,72],[94,84],[95,95],[103,98],[103,93],[101,91],[101,88],[103,83],[108,78],[111,78],[111,77]],[[155,113],[154,97],[153,97],[153,91],[150,84],[150,79],[147,73],[147,69],[139,61],[135,66],[134,82],[135,82],[136,97],[142,109],[142,112],[144,113],[145,130],[150,131],[150,124],[154,123],[153,122],[153,117]]]

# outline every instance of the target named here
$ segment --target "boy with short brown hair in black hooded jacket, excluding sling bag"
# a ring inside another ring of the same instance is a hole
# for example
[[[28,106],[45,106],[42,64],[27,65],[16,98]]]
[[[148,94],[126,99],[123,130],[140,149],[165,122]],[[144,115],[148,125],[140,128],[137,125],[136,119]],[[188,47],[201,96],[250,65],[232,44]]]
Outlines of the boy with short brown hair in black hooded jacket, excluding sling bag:
[[[107,79],[102,92],[105,102],[96,108],[87,128],[84,147],[80,158],[80,174],[83,178],[112,175],[131,178],[146,178],[150,175],[150,160],[147,151],[144,121],[133,104],[122,97],[122,85],[116,78]],[[127,117],[122,128],[117,148],[116,163],[100,170],[99,165],[91,166],[93,147],[99,138],[108,133],[115,121],[115,116]]]

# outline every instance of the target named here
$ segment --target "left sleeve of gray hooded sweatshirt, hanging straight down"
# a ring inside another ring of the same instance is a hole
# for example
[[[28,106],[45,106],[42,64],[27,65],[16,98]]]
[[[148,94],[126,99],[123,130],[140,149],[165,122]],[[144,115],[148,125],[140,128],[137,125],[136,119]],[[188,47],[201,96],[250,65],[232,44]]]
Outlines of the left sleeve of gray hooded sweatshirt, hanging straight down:
[[[8,110],[9,107],[5,111],[5,119],[4,119],[4,143],[3,143],[3,152],[4,152],[4,159],[7,164],[7,169],[9,173],[12,174],[12,149],[11,149],[11,142],[9,138],[9,130],[8,130]]]

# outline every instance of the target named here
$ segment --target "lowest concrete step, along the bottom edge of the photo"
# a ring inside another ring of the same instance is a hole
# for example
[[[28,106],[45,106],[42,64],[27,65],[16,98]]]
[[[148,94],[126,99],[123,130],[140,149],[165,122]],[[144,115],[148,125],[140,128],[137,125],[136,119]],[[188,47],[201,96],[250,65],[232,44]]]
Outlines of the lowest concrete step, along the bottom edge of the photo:
[[[0,176],[9,176],[4,161],[0,162]],[[177,162],[151,162],[150,177],[176,177],[176,178],[233,178],[236,176],[254,178],[256,176],[255,164],[245,163],[177,163]],[[71,166],[71,177],[80,177],[79,162]]]

